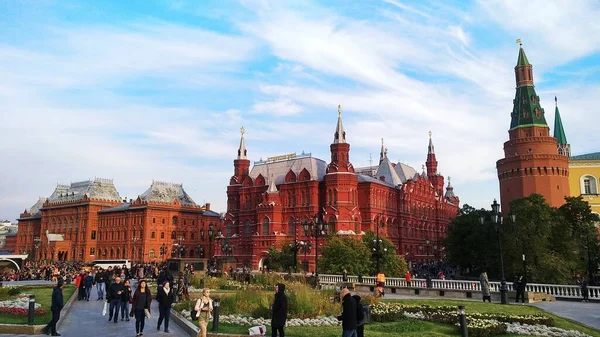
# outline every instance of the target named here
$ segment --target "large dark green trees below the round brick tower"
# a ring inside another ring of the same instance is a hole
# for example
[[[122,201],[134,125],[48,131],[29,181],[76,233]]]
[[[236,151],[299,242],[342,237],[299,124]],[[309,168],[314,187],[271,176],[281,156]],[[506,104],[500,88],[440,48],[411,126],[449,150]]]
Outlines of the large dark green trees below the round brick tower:
[[[539,194],[513,200],[515,222],[504,214],[499,230],[491,222],[491,211],[464,205],[448,226],[449,262],[472,275],[487,269],[490,277],[500,279],[500,241],[509,281],[526,272],[529,282],[572,283],[577,275],[595,272],[600,263],[594,226],[598,216],[581,197],[565,201],[560,208],[553,208]]]

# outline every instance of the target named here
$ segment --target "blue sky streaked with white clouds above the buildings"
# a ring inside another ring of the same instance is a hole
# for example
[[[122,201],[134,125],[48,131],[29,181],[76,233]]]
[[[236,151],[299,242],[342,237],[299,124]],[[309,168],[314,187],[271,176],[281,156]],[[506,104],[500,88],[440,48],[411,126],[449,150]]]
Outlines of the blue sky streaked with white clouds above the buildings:
[[[597,1],[0,1],[0,219],[57,183],[113,178],[135,198],[183,183],[225,211],[251,160],[329,158],[337,105],[355,167],[420,170],[429,130],[463,203],[498,197],[523,44],[549,125],[598,151]]]

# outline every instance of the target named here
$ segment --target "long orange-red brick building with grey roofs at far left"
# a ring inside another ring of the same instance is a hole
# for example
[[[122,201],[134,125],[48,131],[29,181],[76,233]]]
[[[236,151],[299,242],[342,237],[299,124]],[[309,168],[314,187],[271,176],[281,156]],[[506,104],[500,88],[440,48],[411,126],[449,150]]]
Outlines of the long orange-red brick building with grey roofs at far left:
[[[200,250],[208,251],[208,241],[199,234],[202,226],[219,222],[210,204],[196,205],[181,184],[153,181],[146,192],[127,201],[112,180],[96,178],[59,184],[49,198],[25,210],[16,252],[85,262],[198,256]]]

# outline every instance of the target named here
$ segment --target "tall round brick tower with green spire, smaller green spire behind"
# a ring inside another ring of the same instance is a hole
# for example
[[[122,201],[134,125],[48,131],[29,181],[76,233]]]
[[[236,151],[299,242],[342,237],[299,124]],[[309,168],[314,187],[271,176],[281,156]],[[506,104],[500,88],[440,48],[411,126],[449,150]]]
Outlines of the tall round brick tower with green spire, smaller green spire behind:
[[[522,45],[515,66],[515,79],[509,140],[504,143],[504,158],[496,163],[502,210],[507,213],[512,200],[532,193],[543,195],[550,206],[559,207],[564,204],[565,196],[570,195],[570,146],[558,104],[554,136],[550,136],[545,111],[534,89],[533,68]]]

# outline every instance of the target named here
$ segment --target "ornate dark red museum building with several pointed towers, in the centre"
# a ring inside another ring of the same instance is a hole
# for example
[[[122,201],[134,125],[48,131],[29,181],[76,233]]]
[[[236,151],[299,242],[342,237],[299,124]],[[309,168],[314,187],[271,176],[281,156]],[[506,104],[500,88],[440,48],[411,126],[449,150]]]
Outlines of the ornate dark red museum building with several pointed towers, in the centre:
[[[316,240],[304,225],[315,216],[325,223],[327,234],[379,231],[412,262],[441,257],[441,240],[458,212],[459,198],[450,182],[444,191],[431,137],[422,173],[392,163],[383,143],[378,166],[355,169],[341,108],[338,113],[327,162],[311,154],[289,154],[254,162],[250,169],[242,128],[227,187],[224,239],[234,247],[228,259],[258,269],[269,248],[301,241],[313,248],[298,252],[298,258],[314,271]]]

